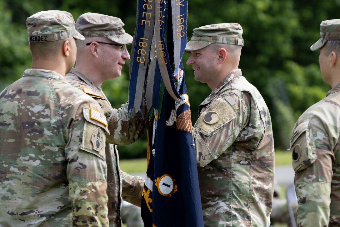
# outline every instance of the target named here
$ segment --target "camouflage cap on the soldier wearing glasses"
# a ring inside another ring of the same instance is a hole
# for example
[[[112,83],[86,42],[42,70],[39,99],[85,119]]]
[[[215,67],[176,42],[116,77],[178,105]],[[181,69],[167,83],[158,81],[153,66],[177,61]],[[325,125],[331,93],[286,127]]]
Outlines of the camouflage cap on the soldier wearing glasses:
[[[120,18],[99,13],[85,13],[75,22],[75,28],[85,37],[107,37],[119,44],[131,44],[133,37],[123,26]]]

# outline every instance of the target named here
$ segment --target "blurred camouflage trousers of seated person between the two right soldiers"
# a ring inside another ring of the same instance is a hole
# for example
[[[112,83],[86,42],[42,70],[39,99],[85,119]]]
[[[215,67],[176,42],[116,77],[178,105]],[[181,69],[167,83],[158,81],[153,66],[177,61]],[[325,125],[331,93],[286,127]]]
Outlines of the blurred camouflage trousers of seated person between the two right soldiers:
[[[296,220],[297,203],[291,206]],[[273,199],[272,212],[270,213],[270,224],[273,225],[275,223],[283,223],[291,226],[286,199],[280,199],[277,197],[274,197]]]

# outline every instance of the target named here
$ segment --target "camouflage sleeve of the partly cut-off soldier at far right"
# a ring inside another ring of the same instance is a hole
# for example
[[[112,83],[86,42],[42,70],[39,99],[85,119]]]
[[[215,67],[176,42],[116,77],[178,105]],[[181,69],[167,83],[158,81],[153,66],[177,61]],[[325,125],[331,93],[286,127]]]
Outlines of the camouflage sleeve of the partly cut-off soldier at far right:
[[[308,118],[295,125],[291,138],[298,226],[328,226],[329,223],[334,153],[323,125],[319,120]]]

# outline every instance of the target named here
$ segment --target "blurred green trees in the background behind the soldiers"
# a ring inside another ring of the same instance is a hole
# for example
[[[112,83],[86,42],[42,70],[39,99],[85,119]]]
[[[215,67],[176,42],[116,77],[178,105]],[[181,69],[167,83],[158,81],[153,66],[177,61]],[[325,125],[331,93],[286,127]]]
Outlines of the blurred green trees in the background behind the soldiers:
[[[309,47],[320,38],[320,22],[339,18],[339,9],[340,0],[188,0],[188,39],[194,28],[203,25],[241,24],[240,68],[270,109],[275,148],[288,149],[297,118],[330,89],[322,80],[319,53]],[[31,67],[26,18],[42,10],[65,10],[75,19],[86,12],[120,17],[130,34],[136,26],[136,0],[0,0],[0,90]],[[184,63],[188,57],[184,54]],[[121,77],[103,84],[115,108],[128,101],[129,64],[125,62]],[[194,81],[191,66],[185,64],[184,68],[194,123],[198,106],[211,90]],[[146,146],[146,136],[132,145],[119,146],[120,157],[145,157]]]

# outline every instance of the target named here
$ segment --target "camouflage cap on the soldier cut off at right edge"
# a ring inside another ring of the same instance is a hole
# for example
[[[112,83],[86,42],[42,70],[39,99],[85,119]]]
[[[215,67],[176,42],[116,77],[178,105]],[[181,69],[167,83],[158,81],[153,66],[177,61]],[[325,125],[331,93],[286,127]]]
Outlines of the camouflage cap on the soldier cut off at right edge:
[[[324,20],[320,24],[320,36],[310,49],[318,50],[327,43],[328,40],[340,40],[340,19]]]

